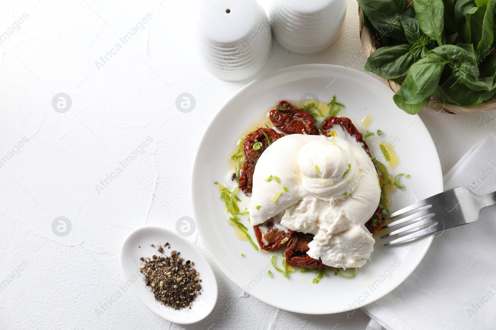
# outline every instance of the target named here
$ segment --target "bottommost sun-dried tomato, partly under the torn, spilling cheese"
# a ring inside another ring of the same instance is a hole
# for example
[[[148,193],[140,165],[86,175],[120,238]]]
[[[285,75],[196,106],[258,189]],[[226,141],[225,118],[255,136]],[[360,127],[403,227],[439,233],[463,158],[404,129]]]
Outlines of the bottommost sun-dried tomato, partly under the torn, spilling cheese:
[[[322,263],[322,260],[313,259],[308,254],[309,243],[313,237],[309,237],[303,233],[294,232],[293,236],[289,239],[288,245],[284,250],[286,256],[286,264],[294,267],[307,267],[307,268],[330,268]]]

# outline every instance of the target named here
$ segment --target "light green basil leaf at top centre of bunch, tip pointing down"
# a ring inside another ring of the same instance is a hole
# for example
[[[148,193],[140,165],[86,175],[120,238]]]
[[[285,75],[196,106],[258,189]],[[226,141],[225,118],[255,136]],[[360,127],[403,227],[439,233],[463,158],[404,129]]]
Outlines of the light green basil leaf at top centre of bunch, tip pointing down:
[[[442,0],[413,0],[413,8],[419,19],[420,29],[441,46],[444,29]]]

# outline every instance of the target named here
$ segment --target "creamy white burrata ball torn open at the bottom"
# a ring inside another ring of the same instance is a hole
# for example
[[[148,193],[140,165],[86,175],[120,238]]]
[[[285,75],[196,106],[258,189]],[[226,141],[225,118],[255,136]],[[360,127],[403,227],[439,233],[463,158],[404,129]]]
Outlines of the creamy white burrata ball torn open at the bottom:
[[[331,267],[362,267],[374,239],[365,227],[380,187],[372,160],[340,126],[335,136],[293,134],[260,156],[249,203],[253,226],[275,217],[315,235],[307,254]]]

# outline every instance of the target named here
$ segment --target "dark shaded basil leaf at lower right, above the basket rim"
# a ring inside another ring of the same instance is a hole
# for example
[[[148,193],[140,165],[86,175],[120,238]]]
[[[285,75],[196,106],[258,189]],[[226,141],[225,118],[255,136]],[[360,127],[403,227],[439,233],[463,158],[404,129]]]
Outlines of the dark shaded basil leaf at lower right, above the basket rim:
[[[496,93],[492,91],[473,91],[453,76],[449,77],[440,88],[445,96],[446,103],[455,103],[462,106],[474,106],[488,100]]]

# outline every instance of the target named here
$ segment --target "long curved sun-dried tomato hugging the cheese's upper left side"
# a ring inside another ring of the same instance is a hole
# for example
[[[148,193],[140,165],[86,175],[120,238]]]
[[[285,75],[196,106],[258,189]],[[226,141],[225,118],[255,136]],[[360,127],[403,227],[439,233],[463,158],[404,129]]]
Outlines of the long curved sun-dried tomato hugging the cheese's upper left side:
[[[253,172],[255,171],[256,162],[262,155],[262,152],[269,146],[269,141],[267,141],[262,131],[267,134],[270,139],[270,143],[284,136],[284,134],[279,134],[273,129],[259,128],[258,130],[248,134],[245,138],[245,142],[243,142],[245,163],[243,164],[243,168],[240,172],[238,187],[247,195],[251,193],[251,189],[253,188]],[[257,146],[259,146],[256,150],[253,149],[253,145],[255,143],[258,143]]]

